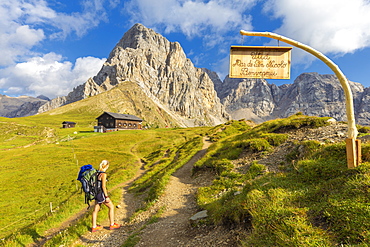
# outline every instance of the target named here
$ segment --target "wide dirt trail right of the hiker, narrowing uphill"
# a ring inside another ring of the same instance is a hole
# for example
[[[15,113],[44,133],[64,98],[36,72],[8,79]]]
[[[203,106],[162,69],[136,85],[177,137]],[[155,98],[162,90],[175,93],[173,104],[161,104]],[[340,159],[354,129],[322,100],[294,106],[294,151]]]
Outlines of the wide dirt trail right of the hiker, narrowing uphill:
[[[209,145],[204,139],[203,150],[171,176],[164,195],[156,205],[166,210],[158,222],[147,226],[136,246],[236,246],[233,232],[229,230],[190,226],[189,218],[199,211],[195,197],[197,189],[211,182],[205,174],[192,177],[192,168]]]

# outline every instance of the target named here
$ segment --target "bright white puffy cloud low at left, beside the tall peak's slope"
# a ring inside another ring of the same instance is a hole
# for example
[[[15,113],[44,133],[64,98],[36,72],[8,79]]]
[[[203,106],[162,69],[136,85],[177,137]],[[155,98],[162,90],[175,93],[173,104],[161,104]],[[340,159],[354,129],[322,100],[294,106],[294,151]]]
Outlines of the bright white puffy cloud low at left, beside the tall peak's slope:
[[[0,88],[6,95],[65,96],[74,87],[96,75],[104,61],[84,57],[78,58],[73,65],[63,61],[60,55],[48,53],[0,70]]]

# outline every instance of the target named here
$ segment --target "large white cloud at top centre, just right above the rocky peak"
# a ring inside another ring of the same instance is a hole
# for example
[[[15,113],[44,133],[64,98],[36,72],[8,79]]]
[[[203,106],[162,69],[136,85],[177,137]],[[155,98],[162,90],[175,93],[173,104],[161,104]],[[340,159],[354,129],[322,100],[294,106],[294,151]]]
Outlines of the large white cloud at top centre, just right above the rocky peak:
[[[235,28],[251,29],[251,16],[245,11],[257,1],[131,0],[125,11],[130,12],[132,22],[142,22],[165,33],[182,32],[189,38],[208,34],[215,38],[209,33],[220,37]]]

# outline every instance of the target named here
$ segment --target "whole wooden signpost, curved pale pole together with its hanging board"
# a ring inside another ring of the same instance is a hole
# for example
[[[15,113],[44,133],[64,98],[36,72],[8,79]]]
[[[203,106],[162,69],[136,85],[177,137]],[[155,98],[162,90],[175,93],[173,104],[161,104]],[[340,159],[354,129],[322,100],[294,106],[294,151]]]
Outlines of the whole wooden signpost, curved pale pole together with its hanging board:
[[[247,36],[262,36],[273,38],[285,42],[289,45],[293,45],[311,53],[312,55],[323,61],[331,70],[333,70],[343,87],[344,96],[346,99],[346,113],[348,121],[348,138],[346,139],[347,165],[348,168],[354,168],[358,166],[361,163],[361,142],[360,140],[356,140],[358,131],[355,124],[353,96],[352,91],[349,87],[348,80],[344,76],[343,72],[339,69],[339,67],[321,52],[318,52],[310,46],[304,45],[287,37],[271,32],[248,32],[243,30],[240,31],[240,34]],[[242,50],[241,47],[231,47],[232,52],[230,52],[230,75],[234,77],[230,77],[289,79],[288,75],[290,76],[290,50],[289,55],[279,55],[278,51],[276,51],[275,53],[275,51],[271,50],[270,48],[271,47],[269,47],[269,50],[267,50],[266,47],[254,47],[255,50],[250,48],[243,48],[247,50],[250,49],[247,51]],[[272,49],[277,48],[279,47],[274,47]],[[286,48],[287,47],[283,47],[283,49]],[[269,63],[269,61],[274,62]],[[286,71],[285,68],[289,69],[289,71]]]

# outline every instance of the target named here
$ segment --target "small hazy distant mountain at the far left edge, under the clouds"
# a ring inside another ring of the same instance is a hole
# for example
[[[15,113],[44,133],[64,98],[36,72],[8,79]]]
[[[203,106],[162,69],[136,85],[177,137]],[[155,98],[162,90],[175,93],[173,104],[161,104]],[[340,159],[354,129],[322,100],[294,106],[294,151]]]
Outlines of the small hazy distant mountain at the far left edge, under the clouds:
[[[1,117],[26,117],[37,114],[38,109],[46,104],[49,98],[43,97],[9,97],[0,94],[0,116]]]

